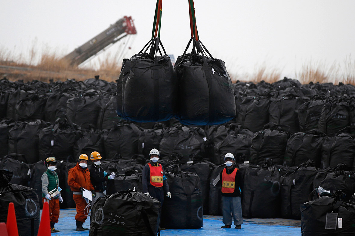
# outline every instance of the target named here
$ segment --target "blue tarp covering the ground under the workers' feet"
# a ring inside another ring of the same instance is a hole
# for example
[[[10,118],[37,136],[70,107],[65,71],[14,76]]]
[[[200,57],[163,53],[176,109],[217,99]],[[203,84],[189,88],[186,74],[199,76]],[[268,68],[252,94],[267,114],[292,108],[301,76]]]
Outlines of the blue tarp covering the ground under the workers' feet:
[[[59,222],[55,224],[55,228],[60,230],[54,235],[89,235],[89,231],[75,231],[75,209],[60,209]],[[84,228],[89,228],[90,220],[83,224]],[[295,223],[296,222],[296,223]],[[284,219],[245,219],[242,229],[221,229],[223,225],[222,217],[204,217],[203,227],[201,229],[178,230],[168,229],[160,231],[162,236],[222,236],[222,235],[240,235],[240,236],[268,236],[283,235],[293,236],[301,235],[300,221],[284,220]],[[280,225],[277,225],[280,224]],[[289,226],[289,225],[293,226]]]

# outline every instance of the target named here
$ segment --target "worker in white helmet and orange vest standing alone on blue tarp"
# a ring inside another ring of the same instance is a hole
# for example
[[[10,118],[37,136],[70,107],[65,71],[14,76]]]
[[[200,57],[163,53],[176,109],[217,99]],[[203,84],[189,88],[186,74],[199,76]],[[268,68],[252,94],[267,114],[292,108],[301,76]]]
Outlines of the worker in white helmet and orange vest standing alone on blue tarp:
[[[242,205],[240,201],[241,191],[243,189],[243,176],[239,169],[235,168],[234,155],[228,152],[224,156],[226,167],[222,175],[222,196],[223,196],[223,224],[221,228],[231,228],[232,215],[235,229],[240,229],[243,224]]]

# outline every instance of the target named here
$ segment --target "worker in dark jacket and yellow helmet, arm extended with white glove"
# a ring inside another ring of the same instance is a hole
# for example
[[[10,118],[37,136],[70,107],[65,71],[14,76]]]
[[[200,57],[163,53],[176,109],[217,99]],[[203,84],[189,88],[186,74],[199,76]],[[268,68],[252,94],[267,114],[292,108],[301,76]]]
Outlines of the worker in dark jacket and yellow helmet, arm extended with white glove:
[[[89,167],[90,179],[91,183],[94,186],[96,196],[92,198],[92,205],[95,204],[95,201],[99,197],[103,197],[106,195],[106,187],[104,182],[110,179],[115,179],[115,172],[112,172],[110,175],[100,168],[102,156],[99,152],[93,151],[90,154],[90,160],[92,161],[92,165]]]

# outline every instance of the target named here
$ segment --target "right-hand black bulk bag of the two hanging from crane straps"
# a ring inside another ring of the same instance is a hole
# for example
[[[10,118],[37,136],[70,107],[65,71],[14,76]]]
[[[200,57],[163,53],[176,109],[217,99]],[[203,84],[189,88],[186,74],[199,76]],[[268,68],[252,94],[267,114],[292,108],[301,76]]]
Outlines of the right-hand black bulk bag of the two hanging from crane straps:
[[[186,54],[191,42],[192,52]],[[196,54],[195,49],[202,55]],[[205,56],[203,49],[210,57]],[[235,117],[234,90],[225,63],[213,58],[201,41],[191,38],[174,68],[179,79],[176,118],[182,124],[218,125]]]

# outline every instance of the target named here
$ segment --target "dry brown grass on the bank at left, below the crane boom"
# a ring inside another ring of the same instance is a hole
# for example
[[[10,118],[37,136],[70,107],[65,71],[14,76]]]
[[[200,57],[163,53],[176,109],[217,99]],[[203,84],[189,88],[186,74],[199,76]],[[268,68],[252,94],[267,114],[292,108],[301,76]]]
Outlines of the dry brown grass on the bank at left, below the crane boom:
[[[15,68],[1,68],[0,77],[7,77],[9,80],[22,79],[40,80],[66,80],[75,78],[85,80],[94,75],[100,75],[100,79],[115,81],[120,74],[121,61],[117,56],[110,56],[99,61],[98,69],[78,68],[65,60],[58,53],[51,51],[48,47],[41,53],[36,49],[35,43],[29,49],[27,56],[20,54],[13,56],[11,51],[0,48],[0,65],[7,65]]]

